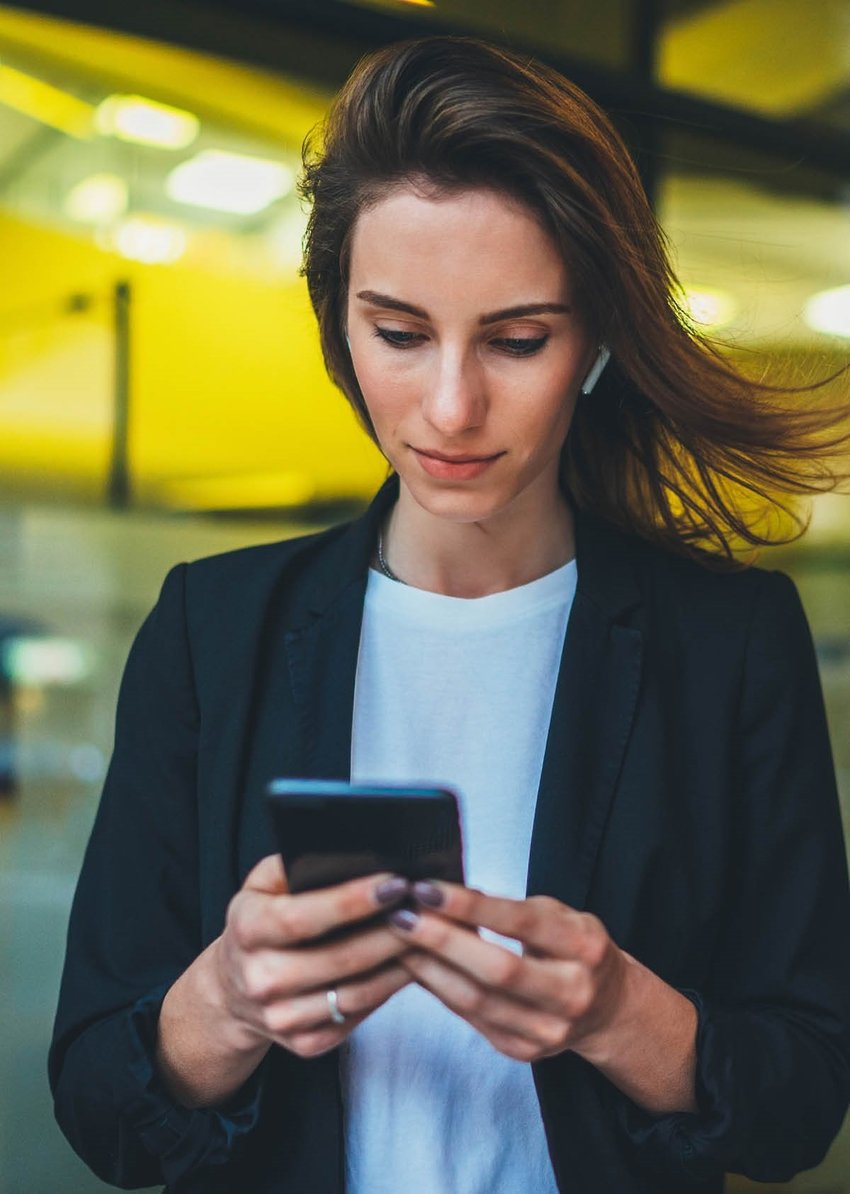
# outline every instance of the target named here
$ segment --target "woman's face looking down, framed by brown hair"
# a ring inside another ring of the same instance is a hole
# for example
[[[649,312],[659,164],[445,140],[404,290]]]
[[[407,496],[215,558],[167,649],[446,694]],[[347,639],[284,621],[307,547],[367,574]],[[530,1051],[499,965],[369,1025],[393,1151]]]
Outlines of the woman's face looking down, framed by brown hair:
[[[479,522],[559,500],[595,345],[528,209],[393,190],[353,230],[347,328],[381,448],[421,507]]]

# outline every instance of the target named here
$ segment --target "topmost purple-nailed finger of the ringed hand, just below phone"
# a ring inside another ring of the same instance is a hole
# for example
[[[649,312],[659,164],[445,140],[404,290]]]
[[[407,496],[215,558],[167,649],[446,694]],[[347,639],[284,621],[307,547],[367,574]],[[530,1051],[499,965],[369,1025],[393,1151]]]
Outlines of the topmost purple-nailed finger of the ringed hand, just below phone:
[[[378,909],[390,907],[408,891],[407,880],[389,874],[352,879],[297,896],[248,890],[230,901],[228,924],[233,923],[244,949],[285,948],[375,916]]]

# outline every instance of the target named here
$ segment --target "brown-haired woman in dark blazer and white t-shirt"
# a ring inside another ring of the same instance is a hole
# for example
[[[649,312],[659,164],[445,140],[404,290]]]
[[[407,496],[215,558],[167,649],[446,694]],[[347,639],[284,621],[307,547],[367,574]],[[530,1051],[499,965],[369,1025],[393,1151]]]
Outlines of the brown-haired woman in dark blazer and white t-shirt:
[[[140,630],[63,1130],[173,1190],[817,1164],[850,1087],[830,745],[794,586],[723,564],[770,494],[827,487],[834,412],[686,326],[624,147],[541,66],[371,56],[304,192],[328,370],[394,476],[347,527],[178,566]],[[469,887],[289,896],[275,775],[456,784]]]

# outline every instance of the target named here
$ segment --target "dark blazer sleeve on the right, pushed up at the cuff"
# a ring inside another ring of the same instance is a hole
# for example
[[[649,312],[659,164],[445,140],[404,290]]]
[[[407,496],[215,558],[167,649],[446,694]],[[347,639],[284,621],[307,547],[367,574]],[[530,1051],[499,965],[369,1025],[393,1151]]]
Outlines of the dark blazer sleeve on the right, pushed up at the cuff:
[[[623,1100],[634,1144],[692,1181],[787,1181],[817,1165],[850,1097],[850,894],[808,623],[764,574],[735,743],[733,892],[696,1005],[700,1114]]]

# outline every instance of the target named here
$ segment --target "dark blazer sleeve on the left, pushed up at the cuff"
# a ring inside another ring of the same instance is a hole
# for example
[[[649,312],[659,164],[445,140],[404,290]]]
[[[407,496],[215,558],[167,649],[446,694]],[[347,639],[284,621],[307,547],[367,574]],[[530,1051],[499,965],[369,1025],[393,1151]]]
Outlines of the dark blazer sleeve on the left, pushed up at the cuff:
[[[190,1110],[154,1066],[162,999],[202,948],[185,571],[166,577],[124,670],[48,1063],[60,1127],[99,1177],[125,1189],[222,1164],[258,1116],[257,1076],[226,1106]]]

